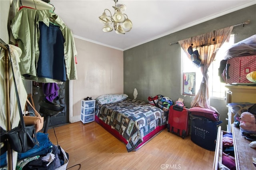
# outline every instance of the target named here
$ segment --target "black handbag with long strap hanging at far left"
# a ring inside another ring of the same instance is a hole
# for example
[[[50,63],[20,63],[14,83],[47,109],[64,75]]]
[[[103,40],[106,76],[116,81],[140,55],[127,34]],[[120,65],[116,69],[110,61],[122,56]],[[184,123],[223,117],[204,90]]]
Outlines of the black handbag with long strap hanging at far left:
[[[10,49],[9,46],[7,46],[8,52],[10,55]],[[11,56],[11,55],[10,55]],[[22,109],[20,106],[20,98],[18,95],[18,89],[16,86],[16,81],[14,77],[14,71],[12,66],[12,59],[10,58],[11,68],[12,68],[12,75],[14,80],[14,86],[15,86],[15,92],[16,92],[16,98],[17,98],[17,104],[18,109],[20,113],[20,125],[16,128],[13,128],[12,130],[8,131],[6,133],[8,142],[10,143],[10,146],[13,150],[19,153],[26,152],[33,148],[36,144],[39,146],[39,142],[36,138],[36,129],[35,125],[25,125],[23,115],[22,115]]]

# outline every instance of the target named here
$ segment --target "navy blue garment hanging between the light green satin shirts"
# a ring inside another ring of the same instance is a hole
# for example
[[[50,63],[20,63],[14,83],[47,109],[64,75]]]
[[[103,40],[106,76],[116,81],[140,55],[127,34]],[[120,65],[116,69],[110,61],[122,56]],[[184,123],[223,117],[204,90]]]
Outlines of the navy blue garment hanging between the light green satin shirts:
[[[64,38],[59,26],[46,26],[39,22],[39,59],[37,63],[38,77],[59,79],[66,81],[64,61]]]

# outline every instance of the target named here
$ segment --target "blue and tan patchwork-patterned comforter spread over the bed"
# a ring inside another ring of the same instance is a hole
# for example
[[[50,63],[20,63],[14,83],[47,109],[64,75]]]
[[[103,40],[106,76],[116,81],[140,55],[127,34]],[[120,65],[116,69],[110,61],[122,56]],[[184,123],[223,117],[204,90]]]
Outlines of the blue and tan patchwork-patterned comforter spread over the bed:
[[[96,115],[128,141],[130,152],[157,126],[166,125],[168,113],[145,101],[124,99],[104,105],[96,102]]]

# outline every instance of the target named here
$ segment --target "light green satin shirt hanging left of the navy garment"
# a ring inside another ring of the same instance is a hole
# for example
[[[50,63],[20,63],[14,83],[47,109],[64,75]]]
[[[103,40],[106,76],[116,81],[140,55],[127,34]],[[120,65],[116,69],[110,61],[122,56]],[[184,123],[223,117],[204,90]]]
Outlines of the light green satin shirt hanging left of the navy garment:
[[[49,25],[49,10],[33,10],[22,8],[17,12],[10,25],[15,40],[18,40],[18,47],[22,49],[20,56],[20,73],[37,77],[36,65],[39,57],[38,41],[40,32],[38,22],[42,21]]]

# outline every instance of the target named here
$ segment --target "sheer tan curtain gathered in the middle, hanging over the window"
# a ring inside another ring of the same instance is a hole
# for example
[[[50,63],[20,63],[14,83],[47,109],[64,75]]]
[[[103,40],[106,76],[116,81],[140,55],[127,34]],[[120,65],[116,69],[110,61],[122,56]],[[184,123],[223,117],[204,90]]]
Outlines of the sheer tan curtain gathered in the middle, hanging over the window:
[[[195,36],[192,38],[188,38],[186,40],[181,40],[178,43],[182,47],[182,49],[186,52],[187,56],[190,59],[190,54],[188,53],[188,47],[193,43],[194,45],[200,44],[208,44],[212,42],[212,39],[215,38],[216,44],[206,45],[204,47],[198,47],[199,55],[201,56],[201,72],[203,75],[202,82],[200,84],[200,89],[196,94],[194,100],[191,102],[191,107],[202,107],[206,109],[211,109],[216,111],[214,107],[210,106],[210,97],[208,90],[208,67],[214,61],[216,56],[216,49],[220,48],[221,45],[229,40],[230,34],[232,32],[233,26],[223,28],[220,30],[215,30],[213,32],[209,32],[206,34],[202,34],[200,36]],[[193,47],[193,46],[192,46]],[[191,59],[190,59],[191,60]],[[191,61],[191,64],[192,61]],[[217,111],[216,111],[217,112]]]

